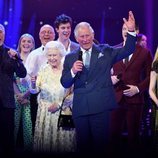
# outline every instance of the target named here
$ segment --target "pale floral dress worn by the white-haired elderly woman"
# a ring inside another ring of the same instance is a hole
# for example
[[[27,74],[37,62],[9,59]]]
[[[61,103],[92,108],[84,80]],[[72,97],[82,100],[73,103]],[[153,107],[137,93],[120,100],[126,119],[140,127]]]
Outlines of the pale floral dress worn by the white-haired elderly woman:
[[[74,152],[76,148],[75,130],[57,129],[59,110],[48,111],[53,103],[61,105],[66,90],[60,83],[62,70],[54,73],[50,65],[41,67],[36,85],[39,88],[38,110],[34,133],[34,150],[44,153]],[[72,104],[72,98],[68,104]],[[66,105],[69,106],[69,105]]]

